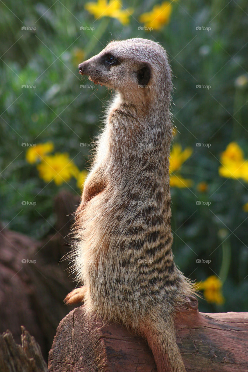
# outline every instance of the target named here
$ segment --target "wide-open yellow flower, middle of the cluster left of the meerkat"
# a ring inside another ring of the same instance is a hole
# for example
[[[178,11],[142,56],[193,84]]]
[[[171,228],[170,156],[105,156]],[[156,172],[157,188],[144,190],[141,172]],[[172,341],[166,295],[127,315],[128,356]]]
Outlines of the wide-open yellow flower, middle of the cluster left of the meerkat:
[[[71,177],[76,177],[79,173],[78,168],[70,160],[67,153],[56,153],[45,156],[40,164],[37,165],[39,177],[45,182],[54,180],[56,185],[67,182]]]

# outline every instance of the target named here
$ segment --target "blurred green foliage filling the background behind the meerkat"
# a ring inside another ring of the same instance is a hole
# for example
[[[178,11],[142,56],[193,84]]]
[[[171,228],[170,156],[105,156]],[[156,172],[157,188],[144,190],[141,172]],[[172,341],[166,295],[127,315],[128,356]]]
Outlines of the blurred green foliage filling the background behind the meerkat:
[[[41,179],[26,161],[28,144],[51,141],[53,152],[66,152],[79,170],[87,169],[91,147],[80,143],[90,144],[98,134],[112,93],[101,86],[80,88],[90,82],[78,75],[77,65],[111,39],[158,41],[174,74],[174,142],[192,149],[179,169],[192,185],[171,188],[175,261],[192,280],[220,280],[209,290],[217,297],[222,290],[225,301],[206,296],[201,311],[248,311],[248,183],[218,172],[230,142],[248,158],[247,1],[169,1],[168,19],[158,25],[158,17],[152,31],[139,29],[140,15],[161,3],[125,1],[120,9],[133,7],[133,13],[124,25],[118,17],[95,17],[85,4],[0,4],[1,221],[36,239],[53,231],[54,196],[61,188],[80,195],[80,188],[73,177],[61,185]]]

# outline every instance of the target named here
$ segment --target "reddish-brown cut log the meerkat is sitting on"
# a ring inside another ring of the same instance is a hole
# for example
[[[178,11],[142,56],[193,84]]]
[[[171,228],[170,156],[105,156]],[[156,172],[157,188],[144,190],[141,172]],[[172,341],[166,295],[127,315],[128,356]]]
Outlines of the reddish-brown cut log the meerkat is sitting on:
[[[190,303],[191,302],[191,303]],[[177,343],[188,372],[247,372],[248,313],[204,314],[198,304],[177,313]],[[119,324],[87,320],[84,307],[61,320],[48,357],[49,372],[156,372],[141,337]],[[166,372],[166,371],[165,371]]]

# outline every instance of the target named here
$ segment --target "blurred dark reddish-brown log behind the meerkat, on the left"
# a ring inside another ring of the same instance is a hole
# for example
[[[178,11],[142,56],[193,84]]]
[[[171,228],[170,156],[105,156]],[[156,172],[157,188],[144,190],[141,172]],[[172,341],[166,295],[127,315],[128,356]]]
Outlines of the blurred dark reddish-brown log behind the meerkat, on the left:
[[[74,284],[62,259],[78,204],[79,197],[61,190],[54,200],[55,230],[42,241],[0,227],[0,333],[9,329],[19,342],[24,325],[46,361],[58,323],[74,308],[63,304]]]

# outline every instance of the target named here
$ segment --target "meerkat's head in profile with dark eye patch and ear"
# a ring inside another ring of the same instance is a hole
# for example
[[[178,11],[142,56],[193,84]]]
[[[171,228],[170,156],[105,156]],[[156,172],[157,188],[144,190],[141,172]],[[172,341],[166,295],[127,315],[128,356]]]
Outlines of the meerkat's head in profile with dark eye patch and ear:
[[[130,102],[137,98],[169,100],[171,69],[165,50],[148,39],[111,41],[79,65],[95,84],[115,89]]]

